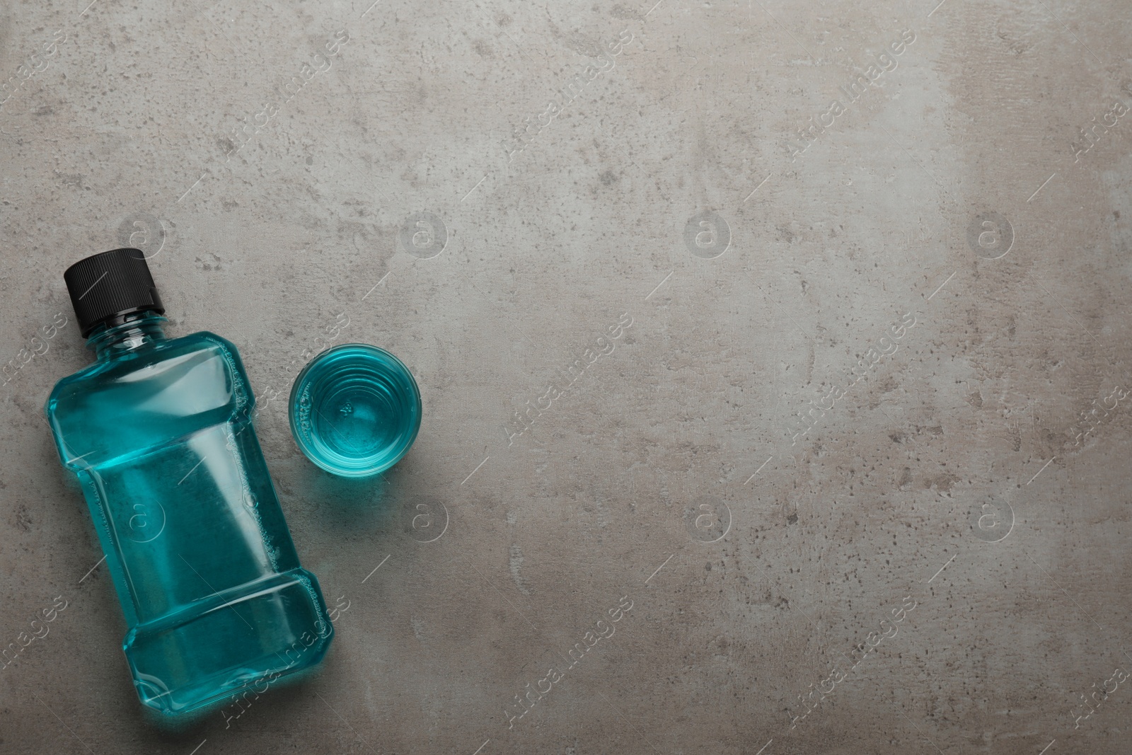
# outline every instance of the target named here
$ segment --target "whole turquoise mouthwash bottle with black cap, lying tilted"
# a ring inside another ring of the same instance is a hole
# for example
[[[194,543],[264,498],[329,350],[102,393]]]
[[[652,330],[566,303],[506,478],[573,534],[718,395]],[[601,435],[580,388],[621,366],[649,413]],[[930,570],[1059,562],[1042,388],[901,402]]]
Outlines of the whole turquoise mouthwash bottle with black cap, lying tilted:
[[[142,703],[177,717],[318,663],[334,629],[283,521],[235,346],[166,337],[137,249],[63,278],[96,361],[44,411],[106,556]]]

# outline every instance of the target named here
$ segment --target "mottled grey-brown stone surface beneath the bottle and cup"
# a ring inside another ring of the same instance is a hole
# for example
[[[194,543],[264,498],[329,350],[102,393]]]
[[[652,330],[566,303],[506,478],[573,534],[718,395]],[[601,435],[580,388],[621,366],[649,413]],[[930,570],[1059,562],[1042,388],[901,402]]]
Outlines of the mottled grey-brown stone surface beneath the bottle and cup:
[[[1127,3],[653,2],[2,5],[0,646],[67,607],[0,750],[1132,752]],[[122,241],[241,349],[344,607],[318,677],[179,733],[42,415],[62,272]],[[423,394],[379,481],[288,431],[338,316]]]

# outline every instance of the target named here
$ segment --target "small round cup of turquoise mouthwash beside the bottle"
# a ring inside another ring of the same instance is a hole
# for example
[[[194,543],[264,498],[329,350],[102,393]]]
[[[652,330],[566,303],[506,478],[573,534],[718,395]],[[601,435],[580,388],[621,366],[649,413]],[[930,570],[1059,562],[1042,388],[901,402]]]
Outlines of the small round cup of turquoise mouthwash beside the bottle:
[[[346,343],[310,361],[291,388],[291,432],[307,457],[342,477],[379,474],[412,446],[421,396],[405,364],[377,346]]]

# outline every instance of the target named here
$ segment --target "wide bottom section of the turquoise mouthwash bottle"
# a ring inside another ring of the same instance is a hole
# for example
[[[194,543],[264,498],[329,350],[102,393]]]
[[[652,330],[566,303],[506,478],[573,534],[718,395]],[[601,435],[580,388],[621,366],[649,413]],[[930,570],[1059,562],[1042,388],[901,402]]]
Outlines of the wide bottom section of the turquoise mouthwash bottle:
[[[142,704],[180,717],[228,698],[238,704],[309,669],[334,636],[324,606],[318,582],[299,568],[132,628],[122,650]]]

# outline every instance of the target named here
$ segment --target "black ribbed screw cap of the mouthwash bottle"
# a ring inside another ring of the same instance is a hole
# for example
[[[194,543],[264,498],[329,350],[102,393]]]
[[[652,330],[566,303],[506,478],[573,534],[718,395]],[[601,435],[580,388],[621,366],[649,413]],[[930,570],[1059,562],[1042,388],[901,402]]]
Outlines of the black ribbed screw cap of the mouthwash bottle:
[[[140,249],[112,249],[80,259],[63,273],[83,337],[97,325],[152,309],[164,314]]]

